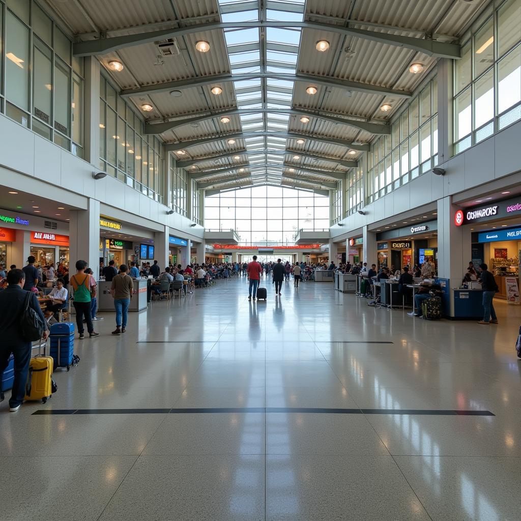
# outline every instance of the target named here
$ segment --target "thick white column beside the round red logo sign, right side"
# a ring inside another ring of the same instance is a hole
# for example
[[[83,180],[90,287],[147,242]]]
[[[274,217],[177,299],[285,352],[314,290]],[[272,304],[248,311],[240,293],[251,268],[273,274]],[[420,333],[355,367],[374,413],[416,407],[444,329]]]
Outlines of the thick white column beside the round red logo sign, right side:
[[[451,279],[453,286],[459,286],[472,257],[470,227],[454,224],[458,209],[451,196],[438,200],[438,277]]]

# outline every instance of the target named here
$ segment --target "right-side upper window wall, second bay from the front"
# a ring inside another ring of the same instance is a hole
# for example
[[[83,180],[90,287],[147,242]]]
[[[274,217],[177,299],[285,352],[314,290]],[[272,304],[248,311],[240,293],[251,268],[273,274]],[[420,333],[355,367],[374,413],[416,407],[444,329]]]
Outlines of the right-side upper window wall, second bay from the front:
[[[390,135],[383,135],[371,143],[368,153],[368,203],[438,164],[436,77],[395,117],[391,127]]]

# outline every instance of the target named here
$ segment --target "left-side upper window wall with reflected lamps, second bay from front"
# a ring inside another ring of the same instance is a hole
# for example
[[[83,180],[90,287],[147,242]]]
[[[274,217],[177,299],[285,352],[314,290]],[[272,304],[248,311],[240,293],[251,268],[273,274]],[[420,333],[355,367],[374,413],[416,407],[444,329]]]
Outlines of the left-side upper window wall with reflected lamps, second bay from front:
[[[143,121],[100,77],[100,168],[159,203],[165,198],[165,147],[143,135]]]

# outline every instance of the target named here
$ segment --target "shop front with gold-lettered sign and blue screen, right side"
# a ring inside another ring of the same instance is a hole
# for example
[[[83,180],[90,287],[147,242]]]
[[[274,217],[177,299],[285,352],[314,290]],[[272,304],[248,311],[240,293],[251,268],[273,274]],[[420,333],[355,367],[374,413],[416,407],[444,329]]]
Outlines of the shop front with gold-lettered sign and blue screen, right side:
[[[421,266],[426,261],[438,270],[438,221],[412,222],[398,228],[389,225],[388,231],[377,230],[378,268],[403,270],[405,266]]]

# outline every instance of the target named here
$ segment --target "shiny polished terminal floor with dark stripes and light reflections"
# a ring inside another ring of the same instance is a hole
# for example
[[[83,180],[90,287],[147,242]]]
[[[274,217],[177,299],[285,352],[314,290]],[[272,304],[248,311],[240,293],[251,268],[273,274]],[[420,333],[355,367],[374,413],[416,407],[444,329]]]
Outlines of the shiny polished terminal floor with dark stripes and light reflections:
[[[429,322],[263,285],[154,302],[120,337],[104,313],[47,404],[1,403],[2,521],[521,517],[519,307]]]

